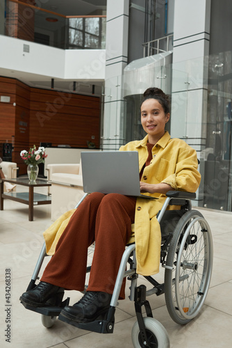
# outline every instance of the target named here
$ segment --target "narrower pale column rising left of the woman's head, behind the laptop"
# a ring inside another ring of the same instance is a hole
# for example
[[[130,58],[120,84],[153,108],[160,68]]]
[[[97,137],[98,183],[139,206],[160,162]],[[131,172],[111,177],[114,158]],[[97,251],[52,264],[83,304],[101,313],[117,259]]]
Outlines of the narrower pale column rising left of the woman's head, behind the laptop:
[[[127,65],[129,0],[108,0],[106,13],[106,77],[103,116],[104,150],[123,143],[122,74]]]

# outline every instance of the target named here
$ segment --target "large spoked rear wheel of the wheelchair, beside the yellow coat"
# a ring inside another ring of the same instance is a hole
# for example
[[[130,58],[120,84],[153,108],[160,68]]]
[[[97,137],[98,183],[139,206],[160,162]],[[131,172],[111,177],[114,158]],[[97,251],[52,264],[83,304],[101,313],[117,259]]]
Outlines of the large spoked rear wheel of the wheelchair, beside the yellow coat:
[[[213,268],[213,241],[197,210],[186,212],[173,233],[165,269],[165,301],[177,324],[187,324],[204,304]]]

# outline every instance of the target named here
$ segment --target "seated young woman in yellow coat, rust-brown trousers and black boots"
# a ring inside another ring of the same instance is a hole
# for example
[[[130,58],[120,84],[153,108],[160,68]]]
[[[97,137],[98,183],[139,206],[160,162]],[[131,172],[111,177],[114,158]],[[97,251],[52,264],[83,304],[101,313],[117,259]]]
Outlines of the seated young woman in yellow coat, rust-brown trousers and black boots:
[[[31,306],[44,306],[65,290],[83,291],[88,246],[95,241],[88,290],[61,315],[67,322],[92,322],[110,306],[119,264],[135,226],[137,272],[156,274],[160,263],[160,226],[156,214],[170,190],[194,192],[199,187],[197,155],[180,139],[165,132],[169,100],[158,88],[148,88],[141,104],[141,122],[147,136],[121,151],[137,150],[140,190],[158,200],[91,193],[72,214],[56,245],[56,252],[35,289],[20,297]],[[124,284],[119,297],[124,299]]]

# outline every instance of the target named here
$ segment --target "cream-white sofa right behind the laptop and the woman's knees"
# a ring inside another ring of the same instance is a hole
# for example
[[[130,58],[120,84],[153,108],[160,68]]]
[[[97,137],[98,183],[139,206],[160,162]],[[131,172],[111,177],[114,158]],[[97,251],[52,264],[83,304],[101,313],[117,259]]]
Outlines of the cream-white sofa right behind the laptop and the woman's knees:
[[[51,220],[55,221],[84,195],[81,164],[49,164],[47,180],[51,182]]]

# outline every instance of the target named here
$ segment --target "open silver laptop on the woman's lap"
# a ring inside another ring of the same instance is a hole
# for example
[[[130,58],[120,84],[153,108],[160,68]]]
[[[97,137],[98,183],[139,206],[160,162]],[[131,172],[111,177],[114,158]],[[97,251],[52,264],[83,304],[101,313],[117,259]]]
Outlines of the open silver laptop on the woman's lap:
[[[121,193],[154,199],[140,193],[137,151],[81,152],[84,192]]]

